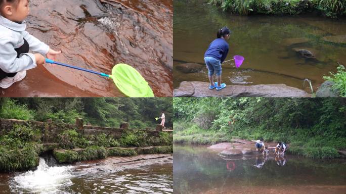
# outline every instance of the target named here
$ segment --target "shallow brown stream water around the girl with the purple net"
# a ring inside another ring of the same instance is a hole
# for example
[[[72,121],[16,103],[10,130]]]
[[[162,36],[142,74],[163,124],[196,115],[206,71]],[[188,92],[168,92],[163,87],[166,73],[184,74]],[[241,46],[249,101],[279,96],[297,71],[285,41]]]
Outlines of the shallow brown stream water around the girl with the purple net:
[[[304,79],[310,79],[316,89],[324,75],[336,72],[338,62],[346,64],[346,45],[323,41],[325,36],[346,34],[345,18],[236,16],[204,0],[174,1],[174,8],[174,66],[188,62],[203,65],[199,72],[189,74],[174,69],[175,88],[182,81],[208,81],[204,53],[223,26],[232,31],[226,60],[234,55],[245,58],[239,69],[232,62],[223,64],[226,84],[284,83],[311,92],[308,83],[303,87]],[[316,59],[301,58],[294,49],[309,50]]]

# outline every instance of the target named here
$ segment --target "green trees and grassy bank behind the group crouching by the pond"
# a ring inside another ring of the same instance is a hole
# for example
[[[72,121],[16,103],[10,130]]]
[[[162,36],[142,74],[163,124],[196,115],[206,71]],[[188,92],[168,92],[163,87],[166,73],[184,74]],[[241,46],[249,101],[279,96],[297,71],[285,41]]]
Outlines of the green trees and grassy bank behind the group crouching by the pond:
[[[174,98],[173,106],[174,143],[263,137],[309,158],[337,158],[346,149],[343,98]]]

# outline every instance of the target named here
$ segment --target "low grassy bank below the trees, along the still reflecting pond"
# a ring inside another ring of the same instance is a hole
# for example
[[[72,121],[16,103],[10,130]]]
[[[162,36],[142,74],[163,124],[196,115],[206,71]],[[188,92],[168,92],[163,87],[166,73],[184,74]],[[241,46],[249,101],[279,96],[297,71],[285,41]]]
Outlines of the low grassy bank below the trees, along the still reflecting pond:
[[[264,138],[266,142],[286,142],[290,144],[289,153],[308,158],[338,158],[337,150],[346,149],[346,138],[330,135],[317,135],[304,129],[286,128],[267,131],[256,128],[243,128],[241,131],[222,132],[205,130],[194,124],[177,121],[174,123],[174,143],[215,144],[231,141],[232,138],[253,140]]]

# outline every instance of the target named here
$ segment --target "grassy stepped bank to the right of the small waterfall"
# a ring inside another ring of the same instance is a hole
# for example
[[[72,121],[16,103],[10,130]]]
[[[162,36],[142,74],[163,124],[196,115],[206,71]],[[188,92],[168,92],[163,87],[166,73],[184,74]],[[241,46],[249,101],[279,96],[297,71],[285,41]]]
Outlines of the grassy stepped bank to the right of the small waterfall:
[[[160,132],[159,136],[149,136],[143,130],[127,130],[122,133],[121,138],[114,139],[104,133],[83,135],[76,130],[66,130],[58,135],[58,142],[62,149],[55,149],[54,157],[59,163],[98,160],[108,156],[172,153],[172,134],[167,132]],[[150,146],[155,147],[141,149]]]

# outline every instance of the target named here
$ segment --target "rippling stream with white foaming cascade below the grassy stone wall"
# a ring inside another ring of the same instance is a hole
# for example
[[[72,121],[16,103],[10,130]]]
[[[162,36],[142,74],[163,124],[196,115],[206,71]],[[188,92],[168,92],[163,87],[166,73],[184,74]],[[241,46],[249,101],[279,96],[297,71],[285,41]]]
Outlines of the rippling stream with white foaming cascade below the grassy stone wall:
[[[128,158],[111,157],[58,165],[52,157],[45,157],[40,158],[36,170],[0,173],[0,191],[40,194],[173,193],[172,163],[168,158],[162,156],[116,165],[114,161]]]

